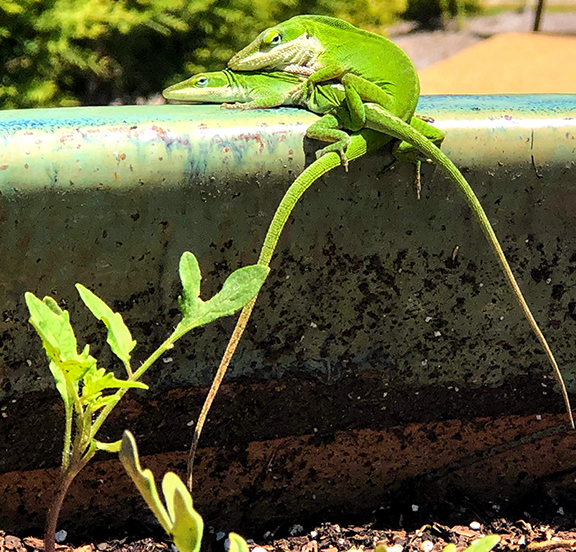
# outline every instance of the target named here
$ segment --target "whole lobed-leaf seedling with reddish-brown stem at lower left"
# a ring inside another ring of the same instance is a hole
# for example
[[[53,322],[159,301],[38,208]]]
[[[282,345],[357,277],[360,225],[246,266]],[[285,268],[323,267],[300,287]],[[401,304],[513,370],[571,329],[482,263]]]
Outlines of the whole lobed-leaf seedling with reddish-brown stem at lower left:
[[[178,298],[182,319],[174,331],[137,370],[131,366],[131,353],[136,346],[122,316],[81,284],[76,284],[80,298],[90,312],[104,323],[107,342],[126,372],[119,379],[112,371],[99,368],[86,345],[78,353],[78,344],[70,315],[52,297],[38,299],[28,292],[26,305],[30,323],[42,339],[56,389],[64,402],[65,430],[62,462],[56,491],[46,517],[44,550],[55,551],[54,536],[60,509],[70,484],[98,450],[118,452],[121,441],[104,443],[96,434],[110,412],[131,388],[147,389],[141,381],[148,368],[162,354],[174,347],[190,330],[203,326],[243,308],[259,291],[269,269],[261,265],[240,268],[224,282],[222,289],[208,301],[200,299],[200,267],[196,257],[185,252],[180,258],[179,272],[182,295]],[[183,551],[182,551],[183,552]]]

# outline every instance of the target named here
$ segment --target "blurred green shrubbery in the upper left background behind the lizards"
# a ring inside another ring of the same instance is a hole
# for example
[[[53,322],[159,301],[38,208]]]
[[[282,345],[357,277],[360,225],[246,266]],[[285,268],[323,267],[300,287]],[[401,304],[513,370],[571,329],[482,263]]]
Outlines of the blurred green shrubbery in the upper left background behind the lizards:
[[[133,103],[298,14],[370,30],[405,0],[0,0],[0,108]]]

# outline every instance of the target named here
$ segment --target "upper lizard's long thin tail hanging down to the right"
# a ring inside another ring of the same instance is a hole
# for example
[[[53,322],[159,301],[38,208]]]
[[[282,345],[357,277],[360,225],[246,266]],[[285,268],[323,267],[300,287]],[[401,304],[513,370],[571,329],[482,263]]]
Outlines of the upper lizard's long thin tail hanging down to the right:
[[[430,157],[439,167],[440,169],[453,181],[456,183],[460,191],[464,194],[468,205],[476,215],[478,222],[480,223],[480,227],[486,236],[486,239],[492,246],[492,249],[496,253],[496,257],[500,262],[500,266],[508,279],[508,283],[510,284],[514,295],[516,296],[516,300],[520,304],[522,311],[524,312],[524,316],[530,323],[530,326],[533,332],[536,334],[538,341],[544,350],[546,351],[546,356],[552,365],[552,369],[554,370],[554,375],[560,384],[560,389],[562,391],[562,397],[564,399],[564,405],[566,406],[566,412],[568,413],[568,418],[570,420],[570,425],[572,429],[574,429],[574,418],[572,416],[572,408],[570,406],[570,399],[568,398],[568,392],[566,391],[566,386],[564,385],[564,379],[562,378],[562,374],[560,372],[560,368],[558,368],[558,364],[554,355],[552,354],[552,350],[550,349],[544,334],[540,330],[532,312],[530,311],[530,307],[528,303],[524,299],[522,295],[522,291],[520,290],[520,286],[518,282],[516,282],[516,278],[512,273],[510,265],[506,260],[506,256],[504,255],[504,251],[500,246],[500,242],[494,233],[492,225],[488,220],[488,216],[484,211],[482,205],[478,201],[474,190],[470,187],[470,184],[466,181],[466,179],[462,176],[462,173],[458,170],[456,165],[452,163],[452,161],[444,154],[442,151],[437,148],[430,140],[428,140],[425,136],[423,136],[420,132],[412,128],[409,124],[405,123],[402,119],[398,117],[394,117],[389,112],[382,109],[380,106],[376,104],[365,104],[366,109],[366,125],[369,128],[377,130],[379,132],[386,133],[390,136],[394,136],[395,138],[399,138],[412,144],[416,148],[418,148],[422,153]]]

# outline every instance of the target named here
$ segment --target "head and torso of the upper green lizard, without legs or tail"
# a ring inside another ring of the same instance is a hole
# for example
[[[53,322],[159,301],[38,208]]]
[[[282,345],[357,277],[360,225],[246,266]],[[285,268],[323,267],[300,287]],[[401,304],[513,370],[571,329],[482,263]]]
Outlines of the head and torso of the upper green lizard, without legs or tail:
[[[356,75],[374,86],[373,97],[408,122],[420,83],[410,58],[383,36],[323,15],[299,15],[266,29],[228,62],[234,71],[284,71],[307,75],[314,85]],[[357,130],[357,129],[355,129]]]

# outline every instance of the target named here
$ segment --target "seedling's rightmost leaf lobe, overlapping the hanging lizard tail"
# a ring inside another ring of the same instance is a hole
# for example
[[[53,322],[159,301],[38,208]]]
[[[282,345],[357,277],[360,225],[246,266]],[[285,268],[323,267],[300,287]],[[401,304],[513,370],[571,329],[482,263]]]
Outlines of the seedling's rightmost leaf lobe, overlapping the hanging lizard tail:
[[[222,289],[198,310],[197,316],[185,317],[180,325],[191,330],[239,311],[260,291],[268,272],[270,269],[264,265],[251,265],[235,270],[226,279]]]

